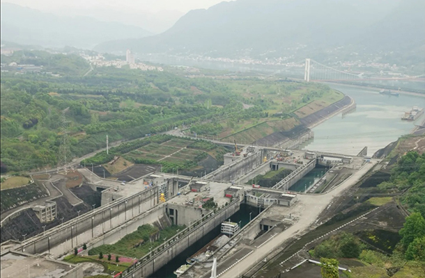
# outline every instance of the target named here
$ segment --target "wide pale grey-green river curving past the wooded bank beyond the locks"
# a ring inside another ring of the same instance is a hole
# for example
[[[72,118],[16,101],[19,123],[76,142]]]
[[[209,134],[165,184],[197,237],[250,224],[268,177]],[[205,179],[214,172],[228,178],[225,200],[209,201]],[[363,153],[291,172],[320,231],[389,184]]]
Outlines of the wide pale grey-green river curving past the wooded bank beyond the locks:
[[[415,122],[401,120],[412,106],[425,107],[425,97],[403,94],[395,97],[366,88],[327,85],[353,97],[357,107],[346,115],[338,113],[314,127],[314,138],[305,142],[301,149],[356,155],[367,146],[368,155],[372,156],[378,149],[410,133],[425,117],[424,113]]]

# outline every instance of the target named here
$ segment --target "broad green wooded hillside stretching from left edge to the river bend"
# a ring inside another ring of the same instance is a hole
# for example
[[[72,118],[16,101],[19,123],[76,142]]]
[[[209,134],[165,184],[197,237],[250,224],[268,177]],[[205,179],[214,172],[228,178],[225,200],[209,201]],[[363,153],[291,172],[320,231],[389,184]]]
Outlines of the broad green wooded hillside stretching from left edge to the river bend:
[[[83,156],[105,147],[107,135],[109,142],[132,140],[192,124],[194,132],[217,136],[228,129],[226,123],[239,126],[264,118],[279,122],[281,116],[274,117],[271,111],[286,115],[334,94],[326,85],[314,83],[187,79],[171,72],[114,67],[95,68],[82,76],[89,65],[72,54],[26,51],[24,57],[14,54],[5,59],[5,63],[43,65],[45,71],[61,75],[2,72],[0,154],[2,170],[11,172],[56,166],[63,113],[71,156]],[[118,153],[126,152],[111,155]],[[102,154],[91,163],[110,160]]]

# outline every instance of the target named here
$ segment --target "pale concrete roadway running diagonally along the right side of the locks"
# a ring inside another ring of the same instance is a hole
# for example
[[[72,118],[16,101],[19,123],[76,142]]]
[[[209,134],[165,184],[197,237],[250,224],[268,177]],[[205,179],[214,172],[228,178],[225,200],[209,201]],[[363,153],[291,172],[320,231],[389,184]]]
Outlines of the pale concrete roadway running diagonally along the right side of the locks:
[[[304,231],[311,228],[315,220],[319,217],[327,206],[332,202],[334,196],[339,196],[343,194],[343,191],[353,186],[357,181],[363,177],[366,172],[368,172],[378,161],[371,161],[371,163],[366,164],[361,170],[357,171],[350,178],[343,181],[340,186],[334,188],[328,193],[323,195],[298,195],[298,204],[296,204],[296,209],[300,215],[300,220],[293,224],[288,229],[282,231],[280,234],[275,236],[273,240],[268,241],[263,246],[256,248],[252,254],[249,254],[245,259],[242,259],[239,263],[233,265],[229,270],[220,275],[221,278],[235,278],[239,277],[243,273],[247,272],[252,265],[255,265],[257,258],[262,259],[264,256],[270,254],[272,250],[279,247],[289,238],[295,236],[300,236]],[[218,273],[218,271],[217,271]]]

